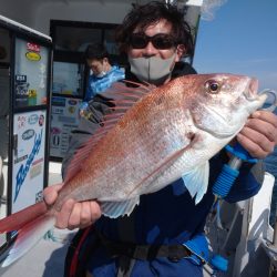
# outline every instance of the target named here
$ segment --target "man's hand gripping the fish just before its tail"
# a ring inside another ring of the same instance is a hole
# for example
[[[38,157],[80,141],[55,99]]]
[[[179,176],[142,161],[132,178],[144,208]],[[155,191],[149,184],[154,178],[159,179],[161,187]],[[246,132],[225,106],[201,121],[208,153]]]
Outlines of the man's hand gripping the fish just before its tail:
[[[62,185],[52,185],[43,191],[44,201],[53,205]],[[60,212],[57,213],[57,228],[85,228],[93,224],[101,216],[101,209],[95,201],[78,203],[73,199],[66,201]]]

